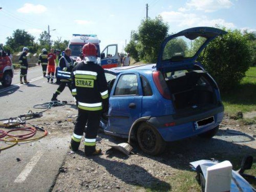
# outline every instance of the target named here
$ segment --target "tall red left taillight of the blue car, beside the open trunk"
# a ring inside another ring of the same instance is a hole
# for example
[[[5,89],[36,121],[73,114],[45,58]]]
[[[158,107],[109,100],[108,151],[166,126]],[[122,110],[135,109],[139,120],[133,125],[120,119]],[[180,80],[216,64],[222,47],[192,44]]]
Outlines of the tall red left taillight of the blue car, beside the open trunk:
[[[160,71],[153,71],[153,80],[156,84],[158,91],[161,93],[161,95],[165,99],[171,99],[170,92],[164,81],[163,75],[160,73]]]

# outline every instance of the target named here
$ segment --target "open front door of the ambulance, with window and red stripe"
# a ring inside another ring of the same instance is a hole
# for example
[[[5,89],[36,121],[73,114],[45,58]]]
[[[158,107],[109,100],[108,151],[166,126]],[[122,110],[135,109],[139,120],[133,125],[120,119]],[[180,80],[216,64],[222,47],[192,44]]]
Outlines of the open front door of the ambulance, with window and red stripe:
[[[118,45],[107,45],[100,54],[101,66],[103,69],[109,69],[120,66],[120,57],[118,55]]]

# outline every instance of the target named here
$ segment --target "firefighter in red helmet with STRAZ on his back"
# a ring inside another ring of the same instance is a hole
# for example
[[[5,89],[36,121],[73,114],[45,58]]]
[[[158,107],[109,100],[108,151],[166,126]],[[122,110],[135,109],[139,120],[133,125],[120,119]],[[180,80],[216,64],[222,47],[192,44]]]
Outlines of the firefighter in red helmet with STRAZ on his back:
[[[84,60],[78,63],[72,74],[72,95],[78,101],[78,118],[71,138],[70,148],[77,151],[85,125],[85,155],[97,155],[97,130],[102,112],[108,110],[109,100],[104,70],[97,64],[97,49],[92,43],[83,46]]]

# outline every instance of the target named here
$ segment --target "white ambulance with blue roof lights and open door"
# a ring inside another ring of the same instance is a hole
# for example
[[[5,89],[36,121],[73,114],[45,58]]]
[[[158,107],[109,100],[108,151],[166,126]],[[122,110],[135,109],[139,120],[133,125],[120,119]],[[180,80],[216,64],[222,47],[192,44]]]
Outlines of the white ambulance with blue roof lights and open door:
[[[79,55],[82,52],[83,45],[89,42],[96,46],[98,52],[97,61],[102,68],[109,69],[120,66],[121,58],[118,55],[118,45],[107,45],[107,47],[100,52],[100,40],[98,39],[97,35],[73,34],[68,45],[68,48],[70,48],[72,51],[71,58],[79,61]]]

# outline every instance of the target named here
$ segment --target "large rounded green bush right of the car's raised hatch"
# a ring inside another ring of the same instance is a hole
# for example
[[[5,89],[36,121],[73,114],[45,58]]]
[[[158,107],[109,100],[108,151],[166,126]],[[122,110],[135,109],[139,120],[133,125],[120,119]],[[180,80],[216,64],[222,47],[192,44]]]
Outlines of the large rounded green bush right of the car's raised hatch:
[[[239,30],[227,32],[209,43],[198,58],[222,91],[228,91],[239,84],[252,58],[247,38]]]

